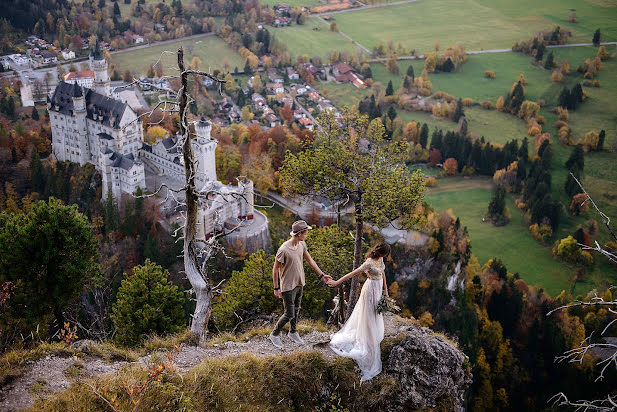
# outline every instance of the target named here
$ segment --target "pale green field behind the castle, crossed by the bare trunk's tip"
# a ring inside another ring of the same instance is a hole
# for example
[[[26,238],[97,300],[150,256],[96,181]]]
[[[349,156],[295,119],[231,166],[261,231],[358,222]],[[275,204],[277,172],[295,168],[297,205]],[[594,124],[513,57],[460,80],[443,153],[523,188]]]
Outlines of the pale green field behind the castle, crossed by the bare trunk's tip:
[[[202,61],[201,68],[203,70],[219,69],[224,70],[223,60],[229,62],[229,71],[233,71],[234,67],[239,70],[244,68],[242,57],[227,44],[215,36],[207,36],[189,41],[178,40],[172,43],[167,43],[160,46],[150,46],[143,49],[128,50],[123,53],[113,54],[113,61],[120,72],[130,70],[134,74],[145,75],[150,64],[155,63],[163,51],[176,51],[178,47],[184,47],[185,62],[189,64],[193,57],[199,57]],[[174,54],[166,54],[161,59],[163,63],[164,74],[177,74],[171,68],[176,67],[176,56]]]

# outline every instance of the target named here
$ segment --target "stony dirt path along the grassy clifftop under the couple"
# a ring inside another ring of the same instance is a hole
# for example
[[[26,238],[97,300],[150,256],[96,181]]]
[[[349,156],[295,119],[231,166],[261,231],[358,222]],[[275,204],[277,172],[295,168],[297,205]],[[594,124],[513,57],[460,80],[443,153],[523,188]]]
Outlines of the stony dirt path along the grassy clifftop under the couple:
[[[405,324],[396,323],[394,319],[394,316],[390,315],[384,317],[386,337],[395,336],[406,327]],[[316,350],[327,359],[333,359],[336,354],[328,347],[330,333],[333,332],[312,331],[302,335],[304,345],[294,343],[287,336],[282,336],[283,349],[272,346],[267,336],[255,336],[246,342],[228,341],[205,348],[184,346],[176,356],[174,365],[178,372],[184,375],[206,358],[223,358],[242,353],[265,357]],[[122,367],[131,364],[148,366],[152,356],[161,354],[162,352],[154,352],[139,358],[136,362],[105,362],[89,355],[83,357],[47,356],[32,362],[21,377],[0,389],[0,411],[19,411],[31,406],[38,397],[48,397],[67,389],[71,386],[72,376],[75,376],[75,373],[94,377],[117,372]]]

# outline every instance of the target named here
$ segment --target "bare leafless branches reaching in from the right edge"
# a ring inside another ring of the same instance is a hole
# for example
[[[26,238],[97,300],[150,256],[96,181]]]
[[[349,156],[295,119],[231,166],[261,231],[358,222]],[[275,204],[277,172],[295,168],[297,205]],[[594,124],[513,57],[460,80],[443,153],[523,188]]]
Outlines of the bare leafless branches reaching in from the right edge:
[[[594,207],[596,212],[602,217],[602,222],[608,229],[610,236],[617,243],[617,235],[615,235],[615,232],[610,227],[610,222],[611,222],[610,218],[600,210],[598,205],[593,201],[591,196],[589,196],[589,193],[587,193],[587,191],[585,190],[581,182],[576,178],[576,176],[574,176],[572,173],[570,174],[576,180],[576,183],[578,183],[579,187],[581,188],[581,190],[586,196],[586,199],[583,202],[583,204],[586,202],[589,202]],[[607,248],[606,246],[602,246],[600,245],[600,243],[598,243],[598,241],[595,242],[595,247],[584,245],[581,243],[579,243],[579,246],[583,250],[596,251],[600,253],[601,255],[605,256],[611,262],[617,263],[617,250],[611,250]],[[617,290],[617,287],[612,286],[610,289]],[[602,307],[605,307],[609,313],[613,315],[617,315],[617,296],[616,295],[617,294],[612,295],[613,296],[612,300],[605,300],[601,296],[598,296],[597,293],[594,293],[594,296],[591,297],[591,299],[589,299],[588,301],[575,300],[574,302],[570,304],[563,305],[556,309],[551,310],[550,312],[546,314],[546,316],[550,316],[553,312],[556,312],[559,310],[564,310],[564,309],[577,307],[577,306],[602,306]],[[598,382],[598,381],[603,380],[604,374],[610,366],[613,365],[615,366],[615,368],[617,368],[617,343],[608,341],[606,339],[608,338],[608,336],[605,335],[606,332],[610,329],[610,327],[615,322],[617,322],[617,317],[611,320],[606,325],[606,327],[602,330],[602,332],[600,333],[601,340],[594,341],[593,340],[594,331],[592,331],[589,336],[583,339],[583,341],[580,343],[580,345],[577,348],[570,349],[564,352],[563,355],[557,356],[555,360],[557,362],[567,361],[571,363],[581,364],[585,356],[588,356],[588,355],[594,356],[598,359],[598,361],[596,362],[596,365],[602,367],[602,370],[600,371],[600,374],[598,375],[595,381]],[[617,411],[617,395],[611,395],[611,394],[607,394],[606,397],[603,399],[571,401],[568,399],[566,394],[564,394],[563,392],[559,392],[555,394],[553,397],[551,397],[549,399],[549,402],[552,402],[553,406],[574,407],[576,408],[577,411],[578,410],[597,411],[597,412]]]

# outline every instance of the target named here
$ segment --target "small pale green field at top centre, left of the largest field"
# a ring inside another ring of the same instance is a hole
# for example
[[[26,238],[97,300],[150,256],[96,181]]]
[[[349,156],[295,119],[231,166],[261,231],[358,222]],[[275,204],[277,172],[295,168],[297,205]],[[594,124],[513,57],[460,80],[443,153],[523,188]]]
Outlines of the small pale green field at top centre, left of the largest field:
[[[306,19],[303,25],[293,24],[290,27],[268,27],[268,30],[278,40],[287,45],[292,59],[306,54],[309,58],[319,56],[328,62],[328,52],[349,51],[358,53],[361,49],[339,33],[330,31],[328,24],[317,17]]]

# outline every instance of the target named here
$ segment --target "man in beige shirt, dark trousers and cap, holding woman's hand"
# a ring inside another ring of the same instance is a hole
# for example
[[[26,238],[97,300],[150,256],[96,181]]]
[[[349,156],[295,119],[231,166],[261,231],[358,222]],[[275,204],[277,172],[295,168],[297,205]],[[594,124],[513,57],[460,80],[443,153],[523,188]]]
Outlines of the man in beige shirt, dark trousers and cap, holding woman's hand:
[[[287,336],[296,343],[304,343],[296,331],[298,312],[300,312],[302,302],[302,288],[305,285],[302,259],[306,259],[309,266],[321,275],[321,280],[324,283],[332,279],[319,269],[317,263],[308,253],[304,240],[310,229],[312,228],[304,220],[295,221],[291,226],[291,233],[289,233],[291,239],[283,243],[276,252],[274,267],[272,268],[272,283],[274,284],[274,296],[283,299],[284,313],[270,334],[270,341],[279,349],[283,347],[279,335],[287,322],[289,322]]]

